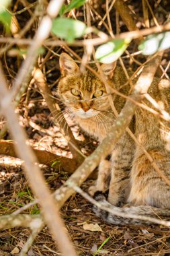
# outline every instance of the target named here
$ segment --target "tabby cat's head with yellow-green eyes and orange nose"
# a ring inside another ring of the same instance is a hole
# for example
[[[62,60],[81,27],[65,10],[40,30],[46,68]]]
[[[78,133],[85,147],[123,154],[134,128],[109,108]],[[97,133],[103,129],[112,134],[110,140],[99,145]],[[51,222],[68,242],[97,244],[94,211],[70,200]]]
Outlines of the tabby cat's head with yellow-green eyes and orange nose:
[[[110,80],[116,63],[101,65],[105,79]],[[87,119],[109,108],[107,92],[101,79],[87,69],[79,71],[77,63],[67,53],[60,55],[61,77],[58,95],[72,113]]]

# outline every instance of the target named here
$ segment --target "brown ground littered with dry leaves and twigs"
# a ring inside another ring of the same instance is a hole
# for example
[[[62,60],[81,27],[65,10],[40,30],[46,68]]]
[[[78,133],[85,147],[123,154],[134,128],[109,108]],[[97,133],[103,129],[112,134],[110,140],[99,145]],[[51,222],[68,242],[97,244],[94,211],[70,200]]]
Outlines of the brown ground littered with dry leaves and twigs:
[[[52,123],[50,112],[41,96],[36,96],[30,100],[28,104],[29,118],[28,116],[24,117],[23,109],[24,106],[21,104],[19,120],[26,128],[30,145],[41,150],[46,149],[55,154],[71,157],[67,143],[60,134],[58,127]],[[36,128],[30,125],[32,123],[37,125]],[[79,127],[71,119],[69,124],[75,137],[81,139],[83,152],[87,155],[90,154],[96,146],[96,141],[85,138],[79,131]],[[49,135],[49,132],[54,135]],[[10,139],[9,135],[6,136],[7,139]],[[32,202],[34,195],[32,195],[28,181],[19,166],[20,161],[7,156],[1,156],[0,160],[0,214],[11,214],[19,207]],[[58,189],[69,177],[66,172],[60,172],[60,170],[46,166],[42,166],[42,172],[44,172],[46,183],[48,183],[51,191]],[[83,184],[82,189],[87,191],[92,183],[92,180],[88,180]],[[24,211],[24,213],[29,214],[38,214],[39,212],[40,208],[37,204]],[[105,224],[93,214],[91,204],[81,195],[73,195],[62,207],[60,214],[65,220],[65,225],[79,255],[170,255],[169,228]],[[101,228],[99,231],[93,231],[95,224]],[[0,255],[17,255],[29,236],[30,230],[27,228],[2,230]],[[100,246],[101,249],[99,249]],[[28,255],[59,255],[47,227],[38,234]]]

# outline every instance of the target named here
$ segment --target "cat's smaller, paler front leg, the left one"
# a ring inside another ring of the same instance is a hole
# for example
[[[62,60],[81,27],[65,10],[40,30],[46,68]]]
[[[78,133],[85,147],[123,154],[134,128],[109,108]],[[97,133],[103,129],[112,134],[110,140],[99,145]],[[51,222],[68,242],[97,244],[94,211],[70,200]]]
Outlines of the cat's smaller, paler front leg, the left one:
[[[99,163],[98,177],[95,181],[95,185],[89,187],[89,194],[94,195],[96,191],[105,192],[109,189],[110,184],[110,165],[109,160],[101,160]]]

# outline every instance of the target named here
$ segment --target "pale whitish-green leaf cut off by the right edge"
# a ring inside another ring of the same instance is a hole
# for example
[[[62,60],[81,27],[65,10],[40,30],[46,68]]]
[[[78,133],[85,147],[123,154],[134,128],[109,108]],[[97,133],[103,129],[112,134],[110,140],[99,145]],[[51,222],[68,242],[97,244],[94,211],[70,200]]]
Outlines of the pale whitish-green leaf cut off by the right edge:
[[[170,47],[170,32],[151,34],[143,40],[138,49],[143,55],[153,55],[157,51],[163,51]]]

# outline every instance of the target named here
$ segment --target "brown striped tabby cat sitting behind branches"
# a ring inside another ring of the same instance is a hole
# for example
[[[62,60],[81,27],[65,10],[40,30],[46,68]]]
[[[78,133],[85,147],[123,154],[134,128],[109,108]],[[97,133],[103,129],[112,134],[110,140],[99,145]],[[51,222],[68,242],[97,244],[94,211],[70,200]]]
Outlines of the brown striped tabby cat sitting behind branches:
[[[77,63],[67,54],[60,55],[61,77],[58,83],[60,100],[69,108],[75,120],[89,136],[98,141],[108,134],[115,116],[110,106],[105,85],[101,79],[88,69],[79,71]],[[95,65],[91,65],[96,70]],[[128,95],[130,86],[122,67],[116,62],[100,66],[105,79],[113,88]],[[168,113],[170,113],[170,82],[168,79],[155,77],[148,94],[150,94]],[[112,94],[118,113],[125,104],[125,99]],[[153,108],[147,100],[143,104]],[[163,174],[170,180],[169,123],[152,113],[137,107],[130,123],[130,129],[157,163]],[[103,193],[109,189],[108,201]],[[96,194],[95,199],[107,207],[129,214],[170,216],[170,187],[163,181],[133,139],[124,133],[112,151],[111,160],[101,159],[96,185],[89,189]],[[128,203],[128,207],[122,205]],[[106,222],[112,224],[148,224],[140,220],[126,219],[94,210]]]

